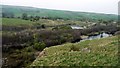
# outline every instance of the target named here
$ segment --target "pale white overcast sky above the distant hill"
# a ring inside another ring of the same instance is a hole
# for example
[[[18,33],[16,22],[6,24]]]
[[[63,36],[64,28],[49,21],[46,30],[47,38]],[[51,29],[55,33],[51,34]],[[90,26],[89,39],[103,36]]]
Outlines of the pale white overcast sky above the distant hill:
[[[3,5],[118,14],[120,0],[2,0]]]

